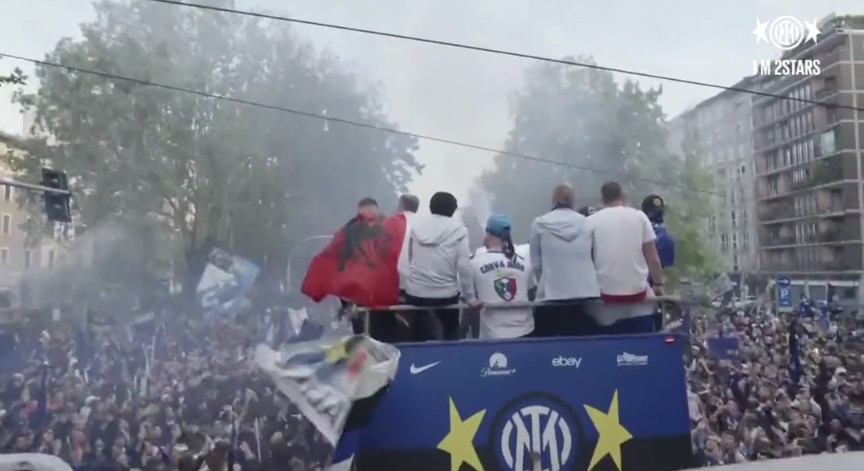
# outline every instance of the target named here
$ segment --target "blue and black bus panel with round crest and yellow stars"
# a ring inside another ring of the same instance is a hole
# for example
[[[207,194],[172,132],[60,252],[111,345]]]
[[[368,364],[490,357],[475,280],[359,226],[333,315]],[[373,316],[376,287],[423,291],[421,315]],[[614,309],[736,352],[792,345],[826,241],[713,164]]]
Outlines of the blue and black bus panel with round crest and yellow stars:
[[[385,309],[429,308],[375,308]],[[357,471],[685,469],[688,342],[656,333],[400,344],[395,380],[343,439],[356,443]]]

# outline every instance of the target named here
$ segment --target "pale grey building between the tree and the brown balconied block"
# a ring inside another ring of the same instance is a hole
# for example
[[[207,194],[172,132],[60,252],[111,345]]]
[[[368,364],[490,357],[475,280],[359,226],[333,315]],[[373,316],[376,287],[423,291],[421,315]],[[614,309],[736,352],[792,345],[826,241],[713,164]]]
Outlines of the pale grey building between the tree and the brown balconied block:
[[[752,78],[735,88],[754,88]],[[669,123],[669,149],[703,161],[714,180],[705,231],[728,273],[759,269],[751,142],[752,94],[723,91]]]

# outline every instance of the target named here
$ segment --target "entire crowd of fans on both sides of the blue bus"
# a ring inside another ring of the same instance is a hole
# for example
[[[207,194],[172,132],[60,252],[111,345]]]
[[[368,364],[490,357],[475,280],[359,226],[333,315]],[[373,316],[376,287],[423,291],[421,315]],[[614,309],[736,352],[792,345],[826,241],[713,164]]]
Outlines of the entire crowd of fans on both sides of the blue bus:
[[[249,333],[261,330],[254,322],[88,332],[19,325],[27,358],[20,372],[0,378],[2,451],[106,471],[325,469],[332,448],[250,366]],[[864,450],[858,328],[853,315],[826,324],[758,306],[696,315],[688,396],[700,463]],[[738,337],[737,357],[712,358],[705,340],[721,334]]]

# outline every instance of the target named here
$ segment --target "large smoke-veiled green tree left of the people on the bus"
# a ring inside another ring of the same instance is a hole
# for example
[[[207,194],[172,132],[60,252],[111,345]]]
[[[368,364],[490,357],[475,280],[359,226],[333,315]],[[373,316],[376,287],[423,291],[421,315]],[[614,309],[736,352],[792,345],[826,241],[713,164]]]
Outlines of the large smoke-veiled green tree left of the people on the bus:
[[[82,39],[60,41],[48,61],[396,126],[374,88],[284,23],[143,0],[95,8]],[[51,139],[9,163],[33,180],[47,162],[65,170],[84,224],[140,239],[114,265],[172,269],[187,286],[209,242],[282,275],[292,241],[331,233],[360,197],[395,201],[421,170],[411,137],[62,68],[36,73],[35,126]]]

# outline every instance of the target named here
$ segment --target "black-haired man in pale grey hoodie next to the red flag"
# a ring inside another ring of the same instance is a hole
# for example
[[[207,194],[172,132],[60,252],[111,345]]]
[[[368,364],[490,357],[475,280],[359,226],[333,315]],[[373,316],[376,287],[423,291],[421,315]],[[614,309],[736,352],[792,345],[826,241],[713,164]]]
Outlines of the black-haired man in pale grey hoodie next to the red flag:
[[[428,307],[457,304],[460,293],[467,302],[475,301],[468,230],[452,217],[457,206],[456,197],[438,192],[429,202],[432,214],[412,219],[410,268],[405,280],[408,304]],[[431,314],[415,311],[411,323],[415,341],[459,338],[458,309],[432,309]]]

